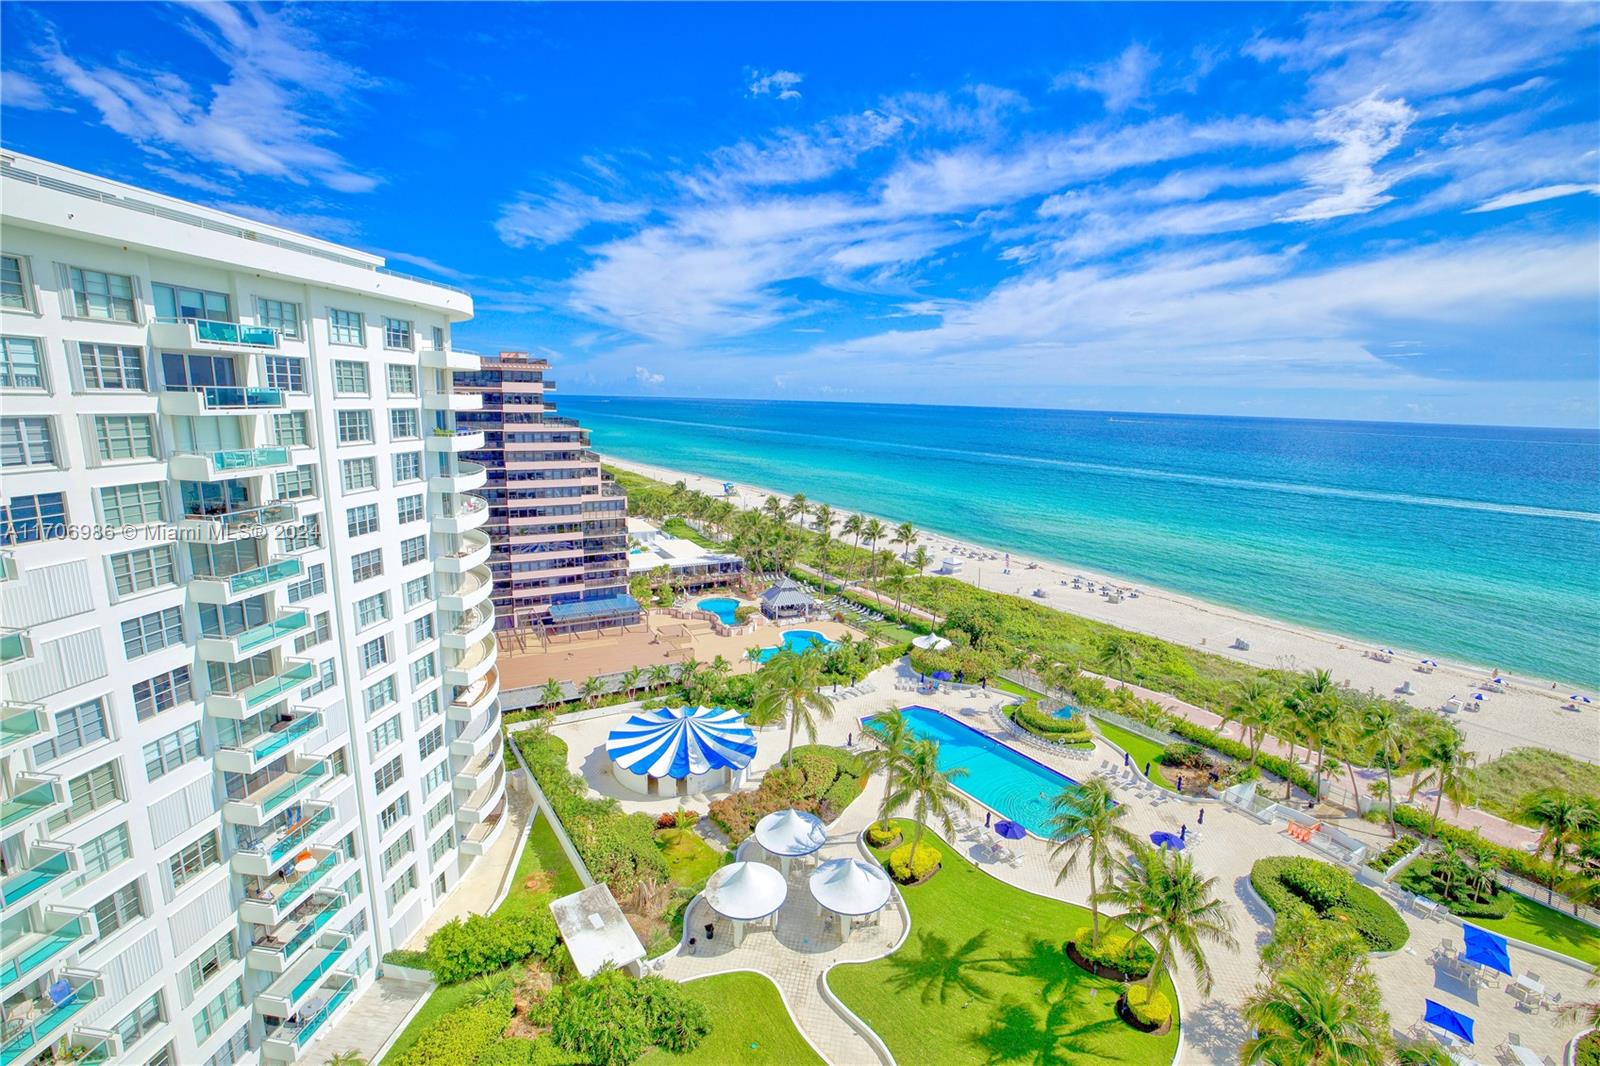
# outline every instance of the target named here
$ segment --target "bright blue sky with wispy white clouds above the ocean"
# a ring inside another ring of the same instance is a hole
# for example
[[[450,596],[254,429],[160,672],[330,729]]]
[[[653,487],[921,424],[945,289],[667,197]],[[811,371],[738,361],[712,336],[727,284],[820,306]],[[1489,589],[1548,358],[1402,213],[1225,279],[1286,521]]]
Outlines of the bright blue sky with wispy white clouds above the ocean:
[[[0,5],[16,150],[573,392],[1595,426],[1595,5]]]

